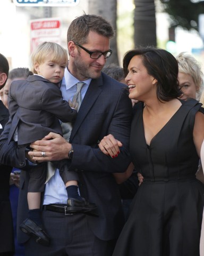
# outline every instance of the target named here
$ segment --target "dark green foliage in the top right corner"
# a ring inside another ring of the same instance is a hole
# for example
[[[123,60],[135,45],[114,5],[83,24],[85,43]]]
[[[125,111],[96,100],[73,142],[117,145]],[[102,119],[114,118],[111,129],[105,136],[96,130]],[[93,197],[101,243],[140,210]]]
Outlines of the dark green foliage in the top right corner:
[[[188,30],[198,30],[199,14],[204,13],[204,2],[193,0],[160,0],[164,11],[171,17],[171,27],[181,26]]]

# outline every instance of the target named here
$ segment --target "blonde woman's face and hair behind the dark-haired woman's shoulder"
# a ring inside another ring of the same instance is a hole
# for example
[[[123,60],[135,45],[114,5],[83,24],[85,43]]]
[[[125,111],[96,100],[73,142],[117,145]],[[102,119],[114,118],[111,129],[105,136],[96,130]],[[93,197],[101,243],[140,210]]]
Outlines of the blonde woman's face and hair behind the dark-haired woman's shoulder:
[[[201,63],[191,54],[181,52],[176,60],[179,64],[179,84],[182,91],[181,99],[193,98],[199,100],[202,89],[203,73]]]

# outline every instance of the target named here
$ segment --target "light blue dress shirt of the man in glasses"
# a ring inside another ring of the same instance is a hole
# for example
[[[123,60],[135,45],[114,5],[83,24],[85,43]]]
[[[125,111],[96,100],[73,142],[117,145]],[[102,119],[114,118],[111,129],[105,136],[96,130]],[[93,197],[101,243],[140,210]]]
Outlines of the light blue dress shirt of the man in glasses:
[[[86,81],[79,81],[77,78],[71,75],[71,73],[65,69],[64,77],[60,90],[62,91],[64,100],[72,100],[73,95],[77,92],[77,83],[84,82],[81,89],[82,99],[86,94],[91,78]],[[59,170],[57,169],[54,176],[46,183],[45,196],[43,204],[66,204],[67,203],[67,191],[64,182],[60,176]]]

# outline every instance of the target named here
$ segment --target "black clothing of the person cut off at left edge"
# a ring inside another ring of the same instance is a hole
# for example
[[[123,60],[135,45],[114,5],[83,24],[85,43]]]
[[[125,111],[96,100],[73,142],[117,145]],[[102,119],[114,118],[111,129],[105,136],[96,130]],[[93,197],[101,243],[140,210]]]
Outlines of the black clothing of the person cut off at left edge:
[[[8,121],[8,110],[0,101],[0,134]],[[14,251],[14,234],[11,205],[9,201],[9,180],[12,167],[0,165],[0,253]]]

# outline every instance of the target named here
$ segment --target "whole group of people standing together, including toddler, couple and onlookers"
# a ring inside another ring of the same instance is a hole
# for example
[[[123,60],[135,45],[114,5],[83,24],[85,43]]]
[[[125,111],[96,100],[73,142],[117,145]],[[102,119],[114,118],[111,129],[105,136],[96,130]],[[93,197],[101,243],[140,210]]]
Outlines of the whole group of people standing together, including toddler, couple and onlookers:
[[[105,66],[113,36],[83,14],[69,61],[44,42],[9,72],[0,54],[0,255],[204,255],[201,65],[138,47]]]

